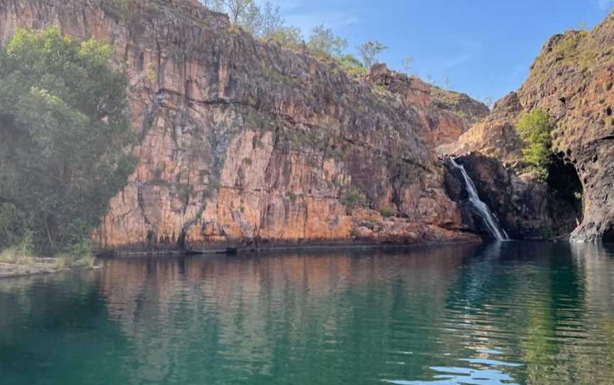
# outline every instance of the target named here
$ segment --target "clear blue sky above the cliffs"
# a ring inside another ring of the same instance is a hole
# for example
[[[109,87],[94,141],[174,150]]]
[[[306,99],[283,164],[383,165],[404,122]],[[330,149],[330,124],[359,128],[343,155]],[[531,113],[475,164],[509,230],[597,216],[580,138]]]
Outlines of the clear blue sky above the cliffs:
[[[303,33],[318,23],[348,40],[388,45],[379,60],[395,69],[414,58],[424,79],[473,97],[499,99],[527,78],[554,33],[592,28],[614,0],[274,0]]]

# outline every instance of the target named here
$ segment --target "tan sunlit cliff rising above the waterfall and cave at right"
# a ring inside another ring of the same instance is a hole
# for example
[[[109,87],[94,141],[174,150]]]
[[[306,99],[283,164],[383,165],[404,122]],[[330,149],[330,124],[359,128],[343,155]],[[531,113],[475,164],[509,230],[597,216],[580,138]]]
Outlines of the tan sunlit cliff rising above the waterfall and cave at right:
[[[448,154],[479,151],[514,166],[522,157],[522,141],[514,125],[522,112],[544,110],[556,123],[554,151],[561,162],[573,165],[583,187],[582,222],[571,239],[613,240],[613,44],[614,14],[592,31],[567,31],[553,36],[542,48],[520,90],[497,102],[487,119],[474,125],[455,143],[439,146],[438,151]],[[564,170],[562,163],[555,168]],[[566,174],[569,172],[556,176],[575,178]],[[561,215],[566,217],[564,212]],[[564,222],[562,219],[561,223]]]

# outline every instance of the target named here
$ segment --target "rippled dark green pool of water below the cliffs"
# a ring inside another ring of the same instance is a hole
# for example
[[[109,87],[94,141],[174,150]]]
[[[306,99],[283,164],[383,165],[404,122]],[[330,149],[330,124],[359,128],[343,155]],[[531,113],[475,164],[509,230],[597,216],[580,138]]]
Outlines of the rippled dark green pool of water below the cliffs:
[[[614,248],[105,261],[0,281],[0,384],[614,384]]]

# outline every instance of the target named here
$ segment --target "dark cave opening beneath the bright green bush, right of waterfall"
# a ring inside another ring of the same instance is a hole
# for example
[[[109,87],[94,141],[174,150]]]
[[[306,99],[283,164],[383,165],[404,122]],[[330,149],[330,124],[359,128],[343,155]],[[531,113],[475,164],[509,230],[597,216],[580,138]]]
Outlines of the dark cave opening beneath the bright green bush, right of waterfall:
[[[576,168],[562,158],[553,158],[548,169],[548,185],[557,197],[569,201],[576,210],[576,216],[582,215],[583,188]]]

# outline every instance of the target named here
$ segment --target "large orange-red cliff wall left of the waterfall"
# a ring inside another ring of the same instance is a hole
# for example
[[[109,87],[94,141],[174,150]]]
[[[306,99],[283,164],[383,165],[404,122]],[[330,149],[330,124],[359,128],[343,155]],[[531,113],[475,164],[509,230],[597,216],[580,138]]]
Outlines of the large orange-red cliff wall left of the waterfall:
[[[117,4],[0,0],[0,43],[55,25],[128,64],[139,167],[109,203],[99,249],[471,238],[433,147],[483,105],[381,69],[352,80],[193,0]]]

